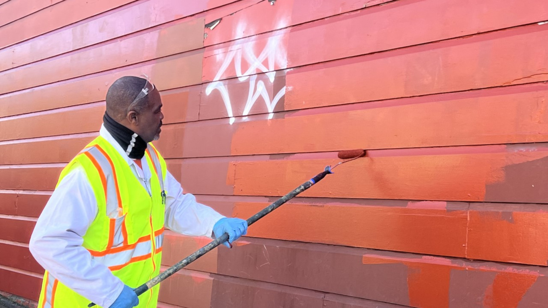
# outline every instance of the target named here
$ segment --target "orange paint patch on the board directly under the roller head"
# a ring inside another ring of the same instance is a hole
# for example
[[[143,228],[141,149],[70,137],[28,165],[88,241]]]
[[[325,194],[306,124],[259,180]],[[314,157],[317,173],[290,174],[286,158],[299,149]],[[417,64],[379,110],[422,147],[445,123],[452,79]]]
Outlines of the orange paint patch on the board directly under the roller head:
[[[476,153],[452,153],[455,149],[444,149],[446,153],[435,155],[394,150],[399,156],[376,157],[371,151],[371,157],[341,165],[335,174],[300,196],[483,201],[486,185],[504,179],[503,167],[548,156],[546,150],[479,152],[488,149],[489,146],[473,147],[470,151]],[[236,162],[234,194],[283,196],[324,166],[336,162],[334,159]]]

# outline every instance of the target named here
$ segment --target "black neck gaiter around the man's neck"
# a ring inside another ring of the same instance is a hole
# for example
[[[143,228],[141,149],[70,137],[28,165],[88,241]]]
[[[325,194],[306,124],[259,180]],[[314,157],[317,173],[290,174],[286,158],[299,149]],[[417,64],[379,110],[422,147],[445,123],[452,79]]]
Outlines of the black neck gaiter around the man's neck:
[[[118,141],[129,158],[141,159],[145,155],[146,142],[133,130],[114,121],[106,112],[103,116],[103,123],[106,130]]]

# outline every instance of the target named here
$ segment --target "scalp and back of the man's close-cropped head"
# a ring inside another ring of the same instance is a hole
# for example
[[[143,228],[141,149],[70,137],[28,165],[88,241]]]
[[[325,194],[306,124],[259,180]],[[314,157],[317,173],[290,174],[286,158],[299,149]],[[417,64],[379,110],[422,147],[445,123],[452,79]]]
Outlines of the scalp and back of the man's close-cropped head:
[[[128,107],[139,95],[146,84],[146,79],[134,76],[118,78],[106,93],[106,112],[115,121],[122,121],[128,113]],[[149,104],[149,95],[139,99],[132,106],[137,113],[144,111]]]

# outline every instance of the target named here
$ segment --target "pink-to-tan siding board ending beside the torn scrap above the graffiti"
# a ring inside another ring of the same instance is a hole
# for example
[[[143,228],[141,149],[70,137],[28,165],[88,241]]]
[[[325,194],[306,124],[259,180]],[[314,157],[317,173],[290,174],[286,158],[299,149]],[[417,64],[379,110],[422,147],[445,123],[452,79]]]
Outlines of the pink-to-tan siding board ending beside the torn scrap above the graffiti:
[[[203,26],[203,18],[176,22],[97,47],[0,72],[0,79],[7,81],[0,85],[0,93],[33,88],[199,49],[203,47]],[[96,62],[95,59],[101,61]],[[44,71],[48,74],[42,73]]]

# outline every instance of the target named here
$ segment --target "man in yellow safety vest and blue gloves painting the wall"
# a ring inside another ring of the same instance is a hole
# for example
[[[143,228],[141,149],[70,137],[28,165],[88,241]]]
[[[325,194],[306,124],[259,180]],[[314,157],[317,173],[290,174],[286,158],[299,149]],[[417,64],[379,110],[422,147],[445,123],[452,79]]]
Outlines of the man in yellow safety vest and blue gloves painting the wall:
[[[226,218],[184,194],[149,142],[162,126],[162,100],[147,79],[117,79],[106,95],[98,138],[62,170],[38,218],[30,251],[46,270],[39,307],[156,307],[164,226],[229,243],[247,222]],[[183,293],[184,294],[184,293]],[[183,295],[184,296],[184,295]]]

